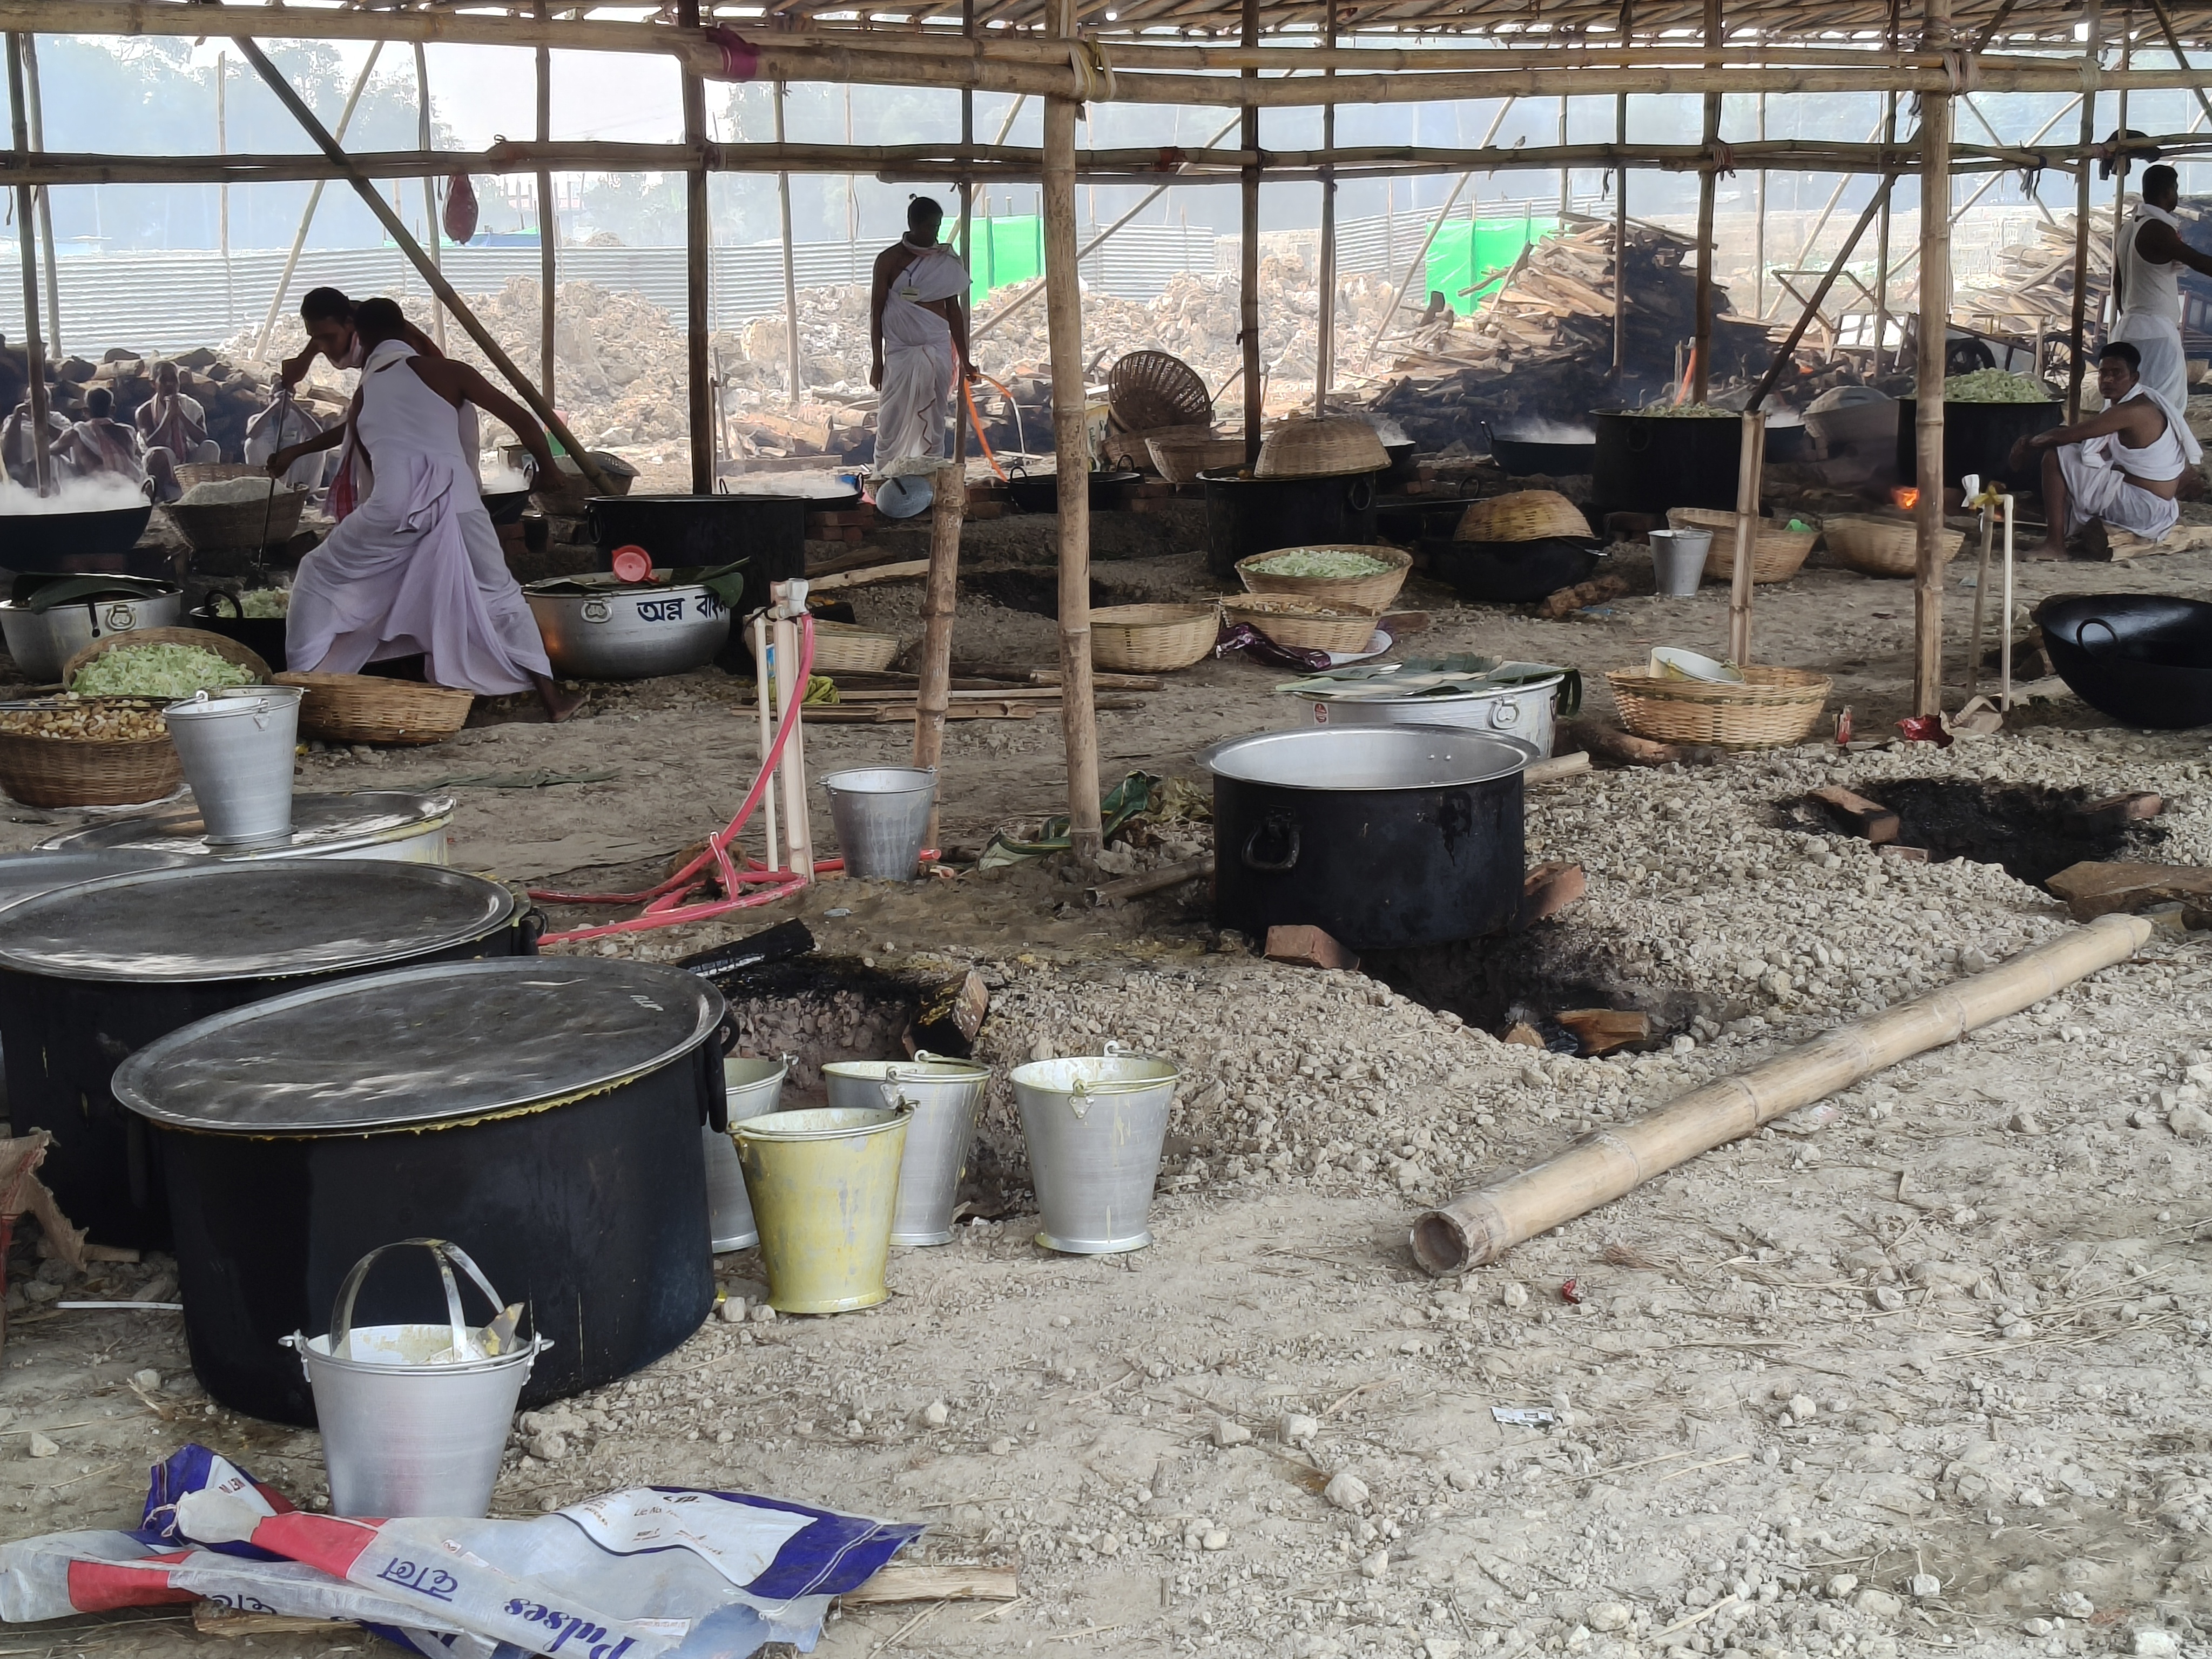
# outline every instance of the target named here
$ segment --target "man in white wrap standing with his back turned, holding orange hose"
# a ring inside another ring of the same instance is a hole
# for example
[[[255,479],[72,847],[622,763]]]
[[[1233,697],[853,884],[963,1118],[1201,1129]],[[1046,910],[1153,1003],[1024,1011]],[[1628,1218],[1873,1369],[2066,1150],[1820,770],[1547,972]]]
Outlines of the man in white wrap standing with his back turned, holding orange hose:
[[[867,332],[876,387],[876,478],[927,471],[945,458],[945,416],[958,378],[973,380],[967,341],[967,265],[938,248],[945,208],[929,197],[907,206],[907,234],[876,254]],[[907,462],[900,467],[900,462]],[[885,504],[885,495],[894,500]],[[876,504],[900,518],[929,504],[927,487],[878,491]]]

